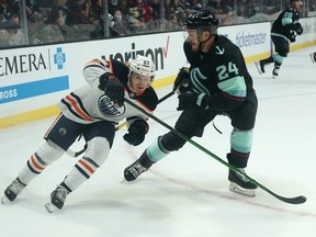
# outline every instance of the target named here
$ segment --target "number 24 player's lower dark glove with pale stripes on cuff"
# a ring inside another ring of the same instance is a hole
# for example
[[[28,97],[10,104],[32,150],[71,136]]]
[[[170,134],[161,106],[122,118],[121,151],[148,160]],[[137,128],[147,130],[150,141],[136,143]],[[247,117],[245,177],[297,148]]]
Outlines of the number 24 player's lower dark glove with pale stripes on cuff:
[[[179,97],[178,111],[193,110],[204,111],[210,103],[211,97],[205,93],[181,93]]]

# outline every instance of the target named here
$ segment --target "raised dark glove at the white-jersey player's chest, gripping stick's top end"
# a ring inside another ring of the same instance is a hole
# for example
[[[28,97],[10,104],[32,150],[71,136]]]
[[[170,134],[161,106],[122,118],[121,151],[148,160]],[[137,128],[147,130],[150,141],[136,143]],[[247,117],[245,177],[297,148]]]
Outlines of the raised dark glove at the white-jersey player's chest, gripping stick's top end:
[[[101,75],[99,79],[99,89],[113,101],[117,106],[122,106],[124,103],[124,86],[115,78],[111,72]]]

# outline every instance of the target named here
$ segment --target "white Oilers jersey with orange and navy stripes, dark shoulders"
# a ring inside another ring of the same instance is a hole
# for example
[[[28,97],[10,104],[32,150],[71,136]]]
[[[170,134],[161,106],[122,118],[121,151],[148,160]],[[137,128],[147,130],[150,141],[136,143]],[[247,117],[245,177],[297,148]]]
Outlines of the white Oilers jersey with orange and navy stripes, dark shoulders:
[[[148,113],[153,113],[157,106],[158,98],[155,90],[148,87],[142,94],[135,94],[127,86],[128,68],[117,60],[89,61],[83,68],[83,77],[88,86],[81,87],[66,95],[58,108],[64,115],[75,122],[90,124],[99,121],[110,121],[119,123],[128,117],[148,119],[145,114],[124,103],[119,108],[99,89],[99,78],[104,72],[110,71],[122,82],[125,88],[125,98],[143,108]]]

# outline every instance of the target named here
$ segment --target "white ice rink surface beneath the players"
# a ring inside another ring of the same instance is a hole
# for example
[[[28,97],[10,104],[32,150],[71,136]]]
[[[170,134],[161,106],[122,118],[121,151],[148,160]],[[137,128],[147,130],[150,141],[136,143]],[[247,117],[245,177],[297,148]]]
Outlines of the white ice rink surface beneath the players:
[[[160,134],[150,120],[149,134],[138,147],[116,134],[104,165],[71,193],[61,211],[48,214],[44,204],[77,159],[67,155],[27,185],[14,203],[0,206],[1,237],[313,237],[316,236],[316,64],[315,47],[293,52],[279,79],[272,66],[260,76],[248,65],[259,98],[253,148],[247,173],[273,192],[307,202],[287,204],[257,190],[256,198],[228,190],[228,169],[191,144],[172,153],[134,183],[122,182],[132,163]],[[159,89],[162,97],[171,86]],[[155,115],[173,125],[177,97],[159,104]],[[54,117],[0,131],[0,191],[16,177],[30,155],[44,142]],[[218,116],[194,140],[226,161],[229,120]],[[79,149],[82,144],[71,147]],[[2,194],[1,194],[2,195]]]

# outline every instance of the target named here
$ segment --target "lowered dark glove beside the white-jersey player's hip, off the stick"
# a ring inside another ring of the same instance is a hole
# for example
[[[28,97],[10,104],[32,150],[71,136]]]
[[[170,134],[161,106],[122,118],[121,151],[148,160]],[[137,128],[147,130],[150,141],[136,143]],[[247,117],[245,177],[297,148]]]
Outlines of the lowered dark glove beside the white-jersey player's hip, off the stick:
[[[133,122],[128,127],[123,138],[133,146],[138,146],[145,139],[145,135],[148,133],[149,126],[145,120],[137,120]]]

